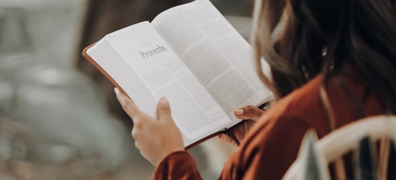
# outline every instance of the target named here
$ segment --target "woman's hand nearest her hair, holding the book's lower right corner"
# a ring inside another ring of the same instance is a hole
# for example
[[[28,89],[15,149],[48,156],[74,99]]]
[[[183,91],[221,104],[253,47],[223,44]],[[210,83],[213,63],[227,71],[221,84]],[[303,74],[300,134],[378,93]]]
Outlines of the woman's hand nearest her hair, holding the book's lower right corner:
[[[237,127],[233,130],[231,130],[231,133],[233,133],[239,140],[239,142],[243,142],[243,138],[245,137],[245,134],[250,130],[250,128],[253,126],[253,124],[265,113],[264,110],[258,109],[256,106],[253,105],[248,105],[246,107],[241,107],[239,109],[236,109],[234,111],[235,116],[237,116],[240,119],[244,119],[244,121],[247,121],[240,125],[240,127]],[[230,143],[231,145],[238,147],[235,141],[229,137],[226,134],[221,134],[219,135],[219,138],[221,141]]]

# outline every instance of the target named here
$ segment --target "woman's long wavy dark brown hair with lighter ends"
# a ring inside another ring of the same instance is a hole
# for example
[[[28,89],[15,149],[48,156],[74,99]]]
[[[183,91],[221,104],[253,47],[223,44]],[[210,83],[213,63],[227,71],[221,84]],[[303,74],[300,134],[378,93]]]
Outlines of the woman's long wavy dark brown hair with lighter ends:
[[[256,67],[276,98],[320,73],[339,77],[348,61],[386,112],[396,114],[395,0],[256,0],[254,19]],[[282,21],[284,29],[274,38]],[[270,78],[262,73],[262,58]]]

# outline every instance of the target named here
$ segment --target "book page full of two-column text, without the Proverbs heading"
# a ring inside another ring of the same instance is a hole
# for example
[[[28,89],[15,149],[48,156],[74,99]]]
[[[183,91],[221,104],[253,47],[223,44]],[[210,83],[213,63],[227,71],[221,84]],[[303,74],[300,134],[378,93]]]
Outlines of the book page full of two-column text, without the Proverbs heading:
[[[171,8],[151,22],[228,116],[272,99],[256,74],[253,48],[208,0]],[[263,62],[265,74],[268,65]]]

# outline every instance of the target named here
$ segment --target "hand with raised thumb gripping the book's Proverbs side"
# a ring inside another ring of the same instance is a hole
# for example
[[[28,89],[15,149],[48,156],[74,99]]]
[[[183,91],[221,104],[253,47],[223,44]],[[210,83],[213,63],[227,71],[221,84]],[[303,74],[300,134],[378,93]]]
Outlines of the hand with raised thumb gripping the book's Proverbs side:
[[[157,118],[141,112],[127,96],[114,88],[124,111],[132,118],[132,137],[140,154],[154,166],[175,151],[184,151],[182,134],[174,123],[170,105],[165,97],[157,104]]]

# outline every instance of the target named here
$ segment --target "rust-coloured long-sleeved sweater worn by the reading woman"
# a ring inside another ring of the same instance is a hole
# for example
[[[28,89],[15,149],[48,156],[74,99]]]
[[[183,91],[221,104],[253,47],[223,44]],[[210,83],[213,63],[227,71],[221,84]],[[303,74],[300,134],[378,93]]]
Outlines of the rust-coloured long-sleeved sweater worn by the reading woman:
[[[367,88],[358,79],[344,78],[351,91],[362,97]],[[329,120],[320,99],[322,75],[280,99],[266,112],[245,137],[241,147],[224,165],[219,179],[281,179],[297,157],[303,135],[313,127],[321,138],[330,132]],[[327,84],[336,127],[356,120],[355,108],[334,83]],[[366,116],[383,113],[373,94],[364,101]],[[348,161],[346,159],[345,161]],[[346,163],[352,177],[351,159]],[[186,151],[169,154],[156,168],[153,179],[202,179],[193,158]]]

